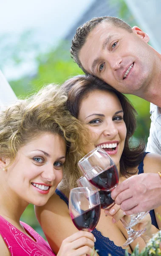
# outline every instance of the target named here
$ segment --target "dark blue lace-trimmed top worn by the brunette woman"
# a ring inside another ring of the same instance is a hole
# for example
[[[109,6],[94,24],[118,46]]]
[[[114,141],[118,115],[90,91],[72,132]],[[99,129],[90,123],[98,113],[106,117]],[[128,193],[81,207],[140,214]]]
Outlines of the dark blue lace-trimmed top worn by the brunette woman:
[[[148,152],[144,153],[144,157]],[[143,159],[144,160],[144,159]],[[142,162],[138,166],[138,174],[144,173],[143,166],[144,163]],[[59,197],[65,201],[65,203],[68,205],[69,201],[68,198],[59,190],[56,189],[56,194],[59,195]],[[154,210],[150,211],[150,216],[152,219],[152,224],[158,228],[155,213]],[[99,250],[99,256],[107,256],[108,253],[111,254],[111,256],[124,256],[125,250],[122,249],[121,246],[116,246],[113,241],[111,241],[108,237],[102,236],[101,232],[96,230],[96,228],[92,231],[93,235],[96,237],[95,242],[95,249]],[[130,253],[129,253],[130,255]]]

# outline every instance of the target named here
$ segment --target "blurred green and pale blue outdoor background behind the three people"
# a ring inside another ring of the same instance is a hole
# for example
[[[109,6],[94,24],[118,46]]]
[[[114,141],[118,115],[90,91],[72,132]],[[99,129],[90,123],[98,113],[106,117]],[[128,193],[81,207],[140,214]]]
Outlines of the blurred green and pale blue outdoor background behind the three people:
[[[150,45],[161,52],[161,1],[158,0],[0,0],[0,70],[17,97],[39,90],[44,84],[62,84],[82,74],[70,57],[76,28],[93,17],[114,16],[150,35]],[[135,82],[135,81],[134,81]],[[0,79],[0,102],[14,99]],[[134,141],[147,142],[150,103],[128,95],[138,112]],[[4,102],[3,102],[4,103]],[[22,220],[42,236],[29,205]]]

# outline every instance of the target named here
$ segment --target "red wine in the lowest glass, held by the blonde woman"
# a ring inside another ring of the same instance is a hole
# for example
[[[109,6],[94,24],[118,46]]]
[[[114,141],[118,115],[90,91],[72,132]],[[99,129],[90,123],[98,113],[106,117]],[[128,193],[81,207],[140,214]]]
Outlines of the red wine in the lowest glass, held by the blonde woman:
[[[73,218],[73,224],[78,230],[92,231],[99,221],[100,212],[101,205],[97,204],[95,207],[83,212],[78,217]]]

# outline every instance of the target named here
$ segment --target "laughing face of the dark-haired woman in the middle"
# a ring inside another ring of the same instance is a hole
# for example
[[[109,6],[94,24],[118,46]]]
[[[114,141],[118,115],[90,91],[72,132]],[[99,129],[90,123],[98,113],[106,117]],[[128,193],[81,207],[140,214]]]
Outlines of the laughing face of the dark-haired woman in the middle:
[[[121,103],[114,93],[102,90],[89,93],[81,102],[78,116],[90,131],[86,153],[101,147],[119,168],[127,133],[123,116]]]

